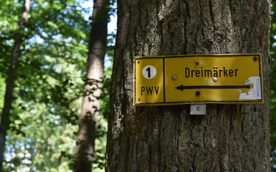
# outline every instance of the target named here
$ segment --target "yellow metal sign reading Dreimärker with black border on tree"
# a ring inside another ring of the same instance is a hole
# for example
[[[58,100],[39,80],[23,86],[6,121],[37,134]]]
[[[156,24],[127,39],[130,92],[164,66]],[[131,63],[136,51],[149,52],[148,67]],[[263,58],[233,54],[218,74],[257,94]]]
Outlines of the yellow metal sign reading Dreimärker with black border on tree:
[[[263,103],[261,54],[134,57],[134,105],[206,103]]]

